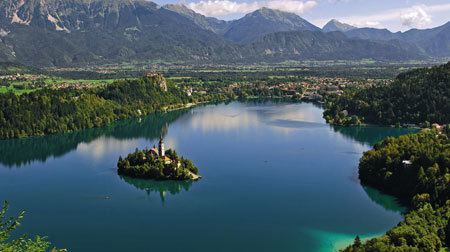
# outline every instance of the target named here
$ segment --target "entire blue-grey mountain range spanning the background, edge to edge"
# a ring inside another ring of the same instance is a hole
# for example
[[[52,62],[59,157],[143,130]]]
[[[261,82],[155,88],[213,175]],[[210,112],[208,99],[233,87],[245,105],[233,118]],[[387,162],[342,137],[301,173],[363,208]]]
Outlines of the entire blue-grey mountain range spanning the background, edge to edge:
[[[145,0],[3,0],[0,9],[0,61],[38,66],[450,56],[449,23],[391,33],[332,20],[322,30],[267,8],[223,21]]]

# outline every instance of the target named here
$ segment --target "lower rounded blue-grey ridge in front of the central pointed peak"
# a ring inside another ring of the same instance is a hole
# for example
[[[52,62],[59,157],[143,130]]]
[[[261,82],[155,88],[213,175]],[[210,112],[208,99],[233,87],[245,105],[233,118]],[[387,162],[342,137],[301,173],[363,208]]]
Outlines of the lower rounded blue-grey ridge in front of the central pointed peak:
[[[267,61],[270,59],[375,59],[389,61],[426,58],[415,48],[405,49],[401,45],[390,42],[348,38],[341,32],[277,32],[264,36],[250,46],[255,49],[253,55],[264,55]]]

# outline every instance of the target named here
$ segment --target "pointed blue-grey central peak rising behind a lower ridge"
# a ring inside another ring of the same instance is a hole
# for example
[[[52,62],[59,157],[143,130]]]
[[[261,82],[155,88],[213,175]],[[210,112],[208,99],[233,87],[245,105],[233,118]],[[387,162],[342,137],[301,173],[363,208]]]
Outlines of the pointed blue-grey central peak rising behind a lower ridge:
[[[261,8],[233,21],[224,37],[237,43],[251,43],[269,33],[298,30],[320,28],[294,13]]]

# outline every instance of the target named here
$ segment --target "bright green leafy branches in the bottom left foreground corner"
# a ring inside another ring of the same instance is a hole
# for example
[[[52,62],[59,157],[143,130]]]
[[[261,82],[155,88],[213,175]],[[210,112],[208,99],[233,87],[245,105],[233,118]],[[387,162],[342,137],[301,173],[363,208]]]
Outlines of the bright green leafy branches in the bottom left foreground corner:
[[[50,247],[50,242],[46,241],[46,237],[36,236],[34,240],[26,239],[27,235],[13,240],[9,240],[11,232],[19,225],[20,220],[24,217],[25,211],[22,211],[17,217],[7,218],[5,216],[8,210],[8,202],[5,201],[3,210],[0,212],[0,251],[2,252],[43,252]],[[50,250],[51,252],[64,252],[65,249]]]

